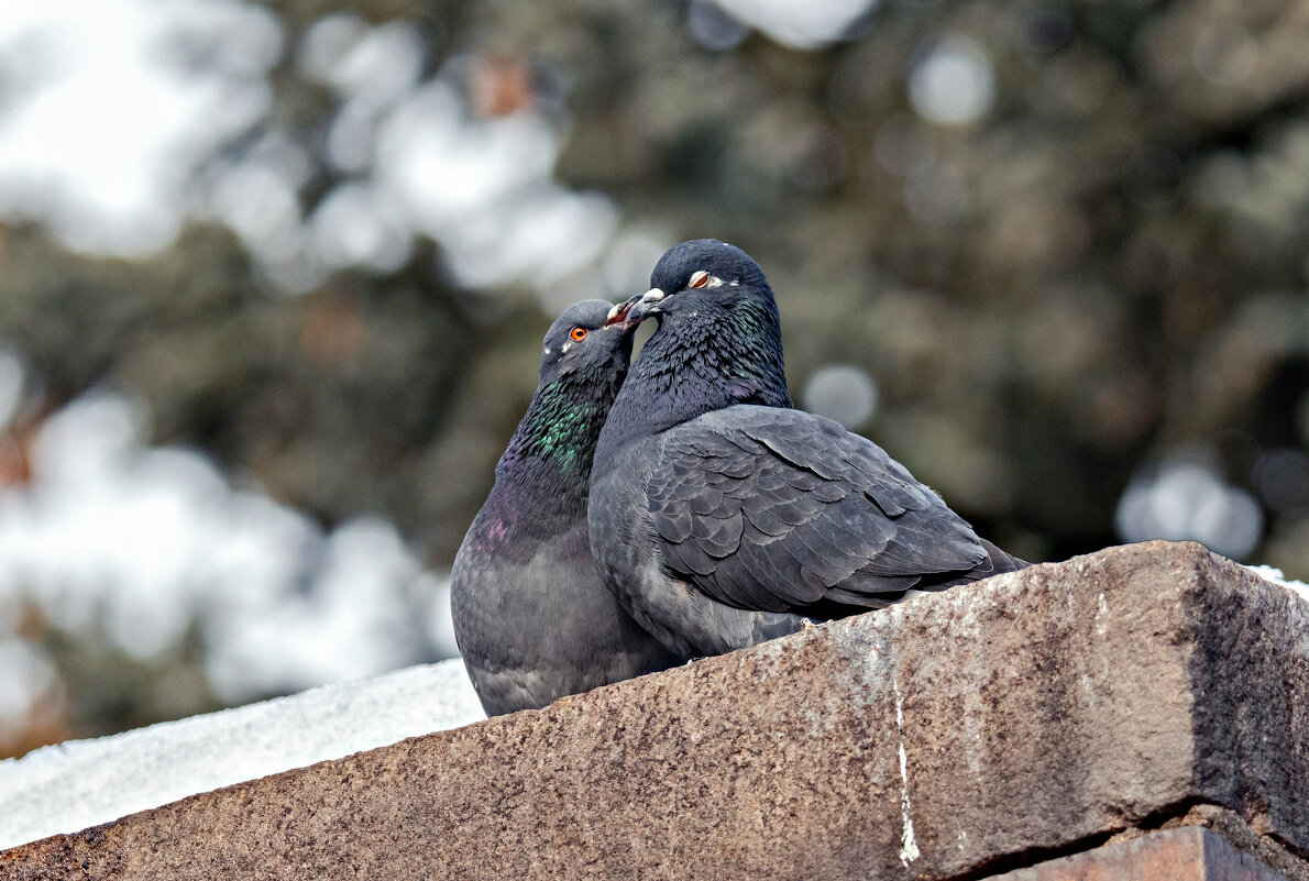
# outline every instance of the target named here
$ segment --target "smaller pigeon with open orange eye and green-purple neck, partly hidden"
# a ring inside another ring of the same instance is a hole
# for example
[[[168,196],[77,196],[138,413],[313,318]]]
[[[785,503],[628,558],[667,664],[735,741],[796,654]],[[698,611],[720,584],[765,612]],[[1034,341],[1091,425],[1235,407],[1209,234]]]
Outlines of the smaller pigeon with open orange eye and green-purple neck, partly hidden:
[[[609,313],[586,300],[551,325],[541,382],[454,558],[454,635],[488,716],[687,660],[623,611],[590,555],[592,454],[632,353]]]

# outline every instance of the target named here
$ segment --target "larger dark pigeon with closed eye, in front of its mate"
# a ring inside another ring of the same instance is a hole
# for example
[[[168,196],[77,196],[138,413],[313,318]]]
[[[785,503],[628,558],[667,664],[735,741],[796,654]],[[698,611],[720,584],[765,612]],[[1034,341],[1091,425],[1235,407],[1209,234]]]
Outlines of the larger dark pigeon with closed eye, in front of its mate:
[[[683,242],[615,308],[658,327],[596,448],[590,541],[623,607],[707,656],[1026,566],[872,441],[792,407],[767,279]]]

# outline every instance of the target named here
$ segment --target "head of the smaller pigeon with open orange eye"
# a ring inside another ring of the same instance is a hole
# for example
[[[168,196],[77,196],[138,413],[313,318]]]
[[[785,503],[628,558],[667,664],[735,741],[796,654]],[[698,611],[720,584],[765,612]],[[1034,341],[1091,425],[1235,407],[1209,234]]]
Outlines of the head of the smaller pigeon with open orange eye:
[[[546,331],[541,385],[571,374],[583,378],[626,376],[635,325],[628,326],[622,319],[607,322],[610,314],[617,315],[622,309],[605,300],[583,300],[564,309]]]

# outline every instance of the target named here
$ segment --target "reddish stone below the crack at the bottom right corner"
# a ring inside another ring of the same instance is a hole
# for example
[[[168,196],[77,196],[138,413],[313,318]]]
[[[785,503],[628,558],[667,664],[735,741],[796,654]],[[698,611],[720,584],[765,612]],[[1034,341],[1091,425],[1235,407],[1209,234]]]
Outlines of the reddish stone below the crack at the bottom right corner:
[[[996,881],[1287,881],[1249,854],[1196,827],[1151,833],[995,877]]]

